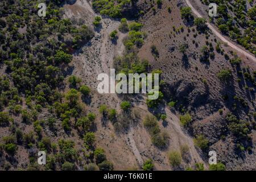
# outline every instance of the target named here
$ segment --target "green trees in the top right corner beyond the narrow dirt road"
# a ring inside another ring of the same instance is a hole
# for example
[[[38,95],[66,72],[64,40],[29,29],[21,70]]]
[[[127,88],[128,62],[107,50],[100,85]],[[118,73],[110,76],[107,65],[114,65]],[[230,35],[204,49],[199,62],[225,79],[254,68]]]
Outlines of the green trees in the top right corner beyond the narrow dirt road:
[[[203,1],[208,5],[212,1]],[[246,1],[214,1],[218,5],[218,17],[213,19],[223,34],[256,56],[256,5],[250,2],[248,9]]]

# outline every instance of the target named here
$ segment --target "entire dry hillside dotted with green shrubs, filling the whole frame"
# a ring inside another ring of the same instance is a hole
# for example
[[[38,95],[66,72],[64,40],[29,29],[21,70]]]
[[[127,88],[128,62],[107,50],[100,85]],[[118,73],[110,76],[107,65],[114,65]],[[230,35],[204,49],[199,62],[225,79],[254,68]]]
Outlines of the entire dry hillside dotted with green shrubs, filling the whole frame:
[[[2,1],[0,169],[255,170],[255,2],[186,2]],[[110,68],[158,100],[98,93]]]

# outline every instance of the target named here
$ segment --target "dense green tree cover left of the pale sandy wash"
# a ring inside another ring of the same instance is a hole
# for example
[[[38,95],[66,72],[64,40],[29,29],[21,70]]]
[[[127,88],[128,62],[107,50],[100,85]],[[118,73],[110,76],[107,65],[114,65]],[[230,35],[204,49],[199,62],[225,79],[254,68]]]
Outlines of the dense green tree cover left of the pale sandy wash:
[[[63,71],[72,61],[73,51],[90,40],[94,32],[63,19],[59,1],[47,3],[44,18],[38,16],[37,4],[27,0],[0,3],[0,64],[6,65],[6,72],[0,77],[0,127],[9,127],[11,131],[1,138],[0,152],[15,157],[19,147],[45,150],[45,169],[72,170],[80,165],[76,144],[71,140],[53,143],[44,131],[49,127],[55,133],[59,123],[67,132],[76,129],[84,140],[86,158],[82,163],[90,164],[89,159],[93,162],[96,155],[92,129],[96,115],[84,111],[80,99],[89,96],[90,88],[81,85],[79,77],[71,76],[71,89],[65,94],[61,89],[66,75]],[[42,111],[48,113],[47,117],[38,119]],[[25,125],[32,125],[32,131],[24,133],[20,127]],[[39,169],[37,154],[27,152],[27,169]],[[108,161],[98,166],[113,169]]]

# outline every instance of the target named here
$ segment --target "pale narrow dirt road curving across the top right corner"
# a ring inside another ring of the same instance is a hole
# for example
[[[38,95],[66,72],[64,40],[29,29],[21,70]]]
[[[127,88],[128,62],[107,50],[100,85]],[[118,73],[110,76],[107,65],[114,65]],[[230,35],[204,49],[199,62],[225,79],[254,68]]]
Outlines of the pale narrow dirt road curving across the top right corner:
[[[203,18],[203,16],[191,5],[191,2],[189,2],[189,0],[185,0],[185,2],[187,3],[187,5],[189,7],[191,7],[192,12],[199,18]],[[223,35],[220,34],[220,32],[218,32],[210,23],[207,22],[207,26],[210,28],[210,30],[212,30],[212,32],[219,38],[222,40],[222,42],[225,42],[226,44],[228,44],[228,46],[232,47],[233,49],[236,49],[236,51],[240,52],[241,54],[245,55],[247,58],[253,60],[256,62],[256,57],[254,57],[253,55],[251,55],[249,52],[244,51],[243,49],[241,49],[240,47],[236,46],[235,44],[233,44],[232,42],[230,42],[229,40],[227,40]]]

